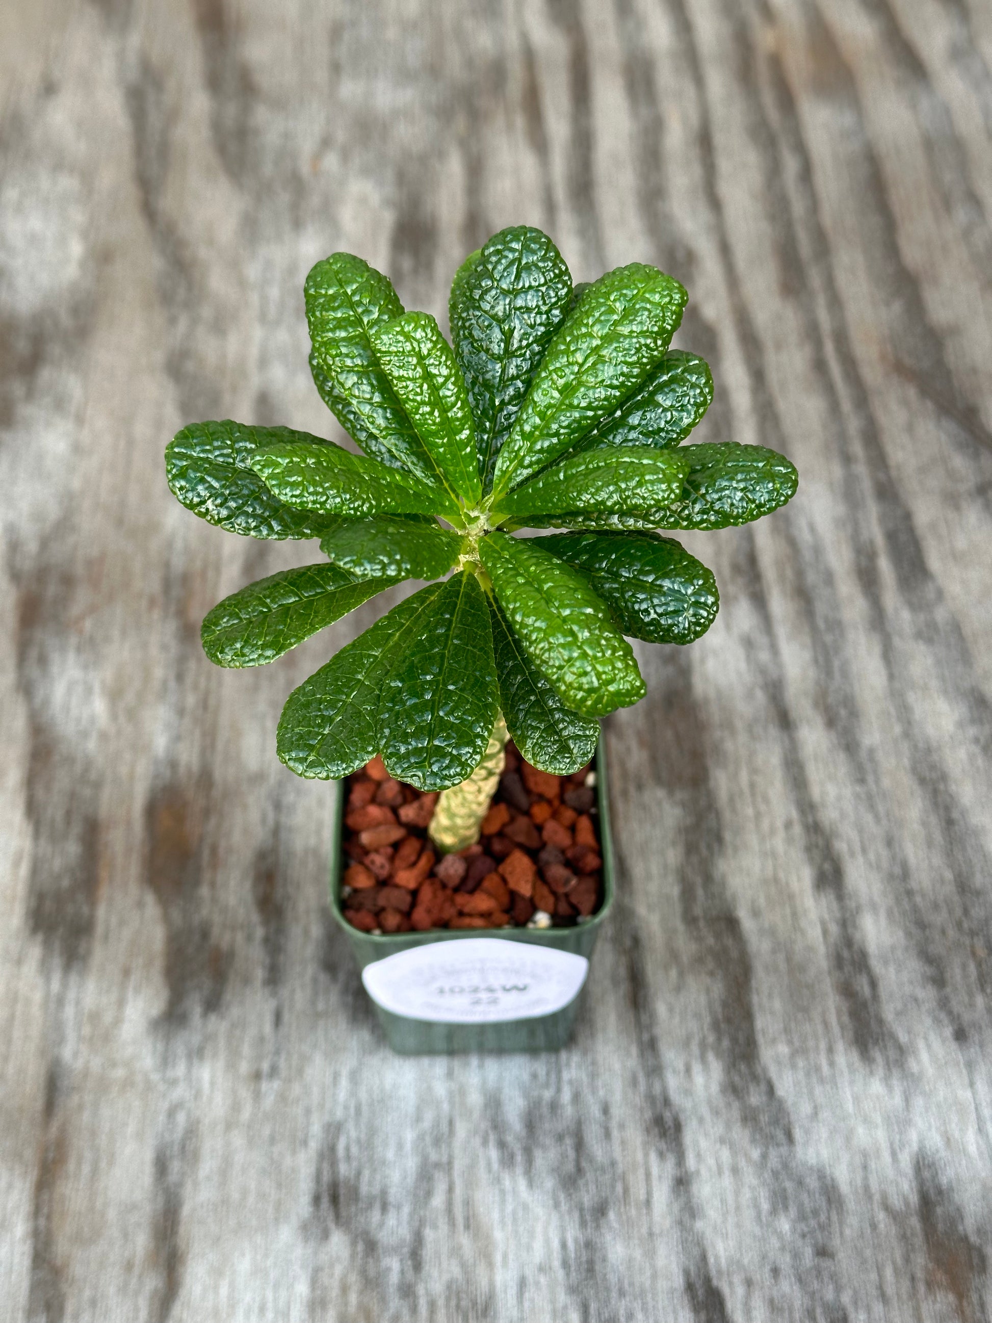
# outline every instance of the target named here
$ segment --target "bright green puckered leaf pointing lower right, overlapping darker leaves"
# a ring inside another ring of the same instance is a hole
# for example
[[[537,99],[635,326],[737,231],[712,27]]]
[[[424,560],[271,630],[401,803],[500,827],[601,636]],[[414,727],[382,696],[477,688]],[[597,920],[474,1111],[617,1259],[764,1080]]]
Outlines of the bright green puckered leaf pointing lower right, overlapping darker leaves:
[[[583,717],[603,717],[643,699],[634,652],[606,603],[538,544],[507,533],[479,544],[493,591],[530,660]]]

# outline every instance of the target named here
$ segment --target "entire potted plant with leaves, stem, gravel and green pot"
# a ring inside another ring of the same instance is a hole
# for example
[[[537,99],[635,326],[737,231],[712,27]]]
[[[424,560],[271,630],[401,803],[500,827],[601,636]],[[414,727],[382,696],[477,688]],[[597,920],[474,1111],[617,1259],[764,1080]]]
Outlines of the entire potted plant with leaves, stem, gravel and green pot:
[[[336,253],[307,278],[310,364],[364,454],[230,421],[168,446],[196,515],[324,556],[206,615],[218,665],[431,581],[295,689],[276,733],[286,766],[339,783],[332,904],[401,1050],[563,1041],[612,888],[599,718],[644,695],[627,639],[689,643],[718,607],[660,531],[743,524],[796,490],[765,447],[681,446],[713,396],[706,364],[669,348],[685,302],[641,263],[573,287],[550,238],[515,226],[455,275],[448,344]]]

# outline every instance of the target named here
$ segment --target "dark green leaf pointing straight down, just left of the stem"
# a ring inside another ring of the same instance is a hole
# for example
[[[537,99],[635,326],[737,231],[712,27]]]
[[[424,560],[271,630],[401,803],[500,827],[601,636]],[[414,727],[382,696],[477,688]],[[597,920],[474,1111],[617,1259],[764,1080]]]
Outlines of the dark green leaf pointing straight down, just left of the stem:
[[[497,709],[489,611],[466,570],[443,585],[385,683],[380,744],[388,771],[418,790],[456,786],[479,766]]]

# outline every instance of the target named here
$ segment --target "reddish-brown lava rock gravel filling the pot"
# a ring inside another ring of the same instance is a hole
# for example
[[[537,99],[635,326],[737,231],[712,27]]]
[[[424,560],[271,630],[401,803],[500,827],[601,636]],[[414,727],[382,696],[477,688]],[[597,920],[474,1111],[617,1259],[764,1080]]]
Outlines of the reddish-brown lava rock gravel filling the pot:
[[[569,927],[599,909],[603,859],[593,765],[553,777],[507,745],[475,845],[439,855],[436,794],[393,781],[376,757],[348,778],[344,917],[362,933]]]

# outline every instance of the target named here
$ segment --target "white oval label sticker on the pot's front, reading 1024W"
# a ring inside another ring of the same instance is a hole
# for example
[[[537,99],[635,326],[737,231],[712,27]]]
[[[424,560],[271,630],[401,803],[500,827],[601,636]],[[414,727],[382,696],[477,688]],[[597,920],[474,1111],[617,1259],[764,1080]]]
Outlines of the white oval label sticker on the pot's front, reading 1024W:
[[[586,982],[585,955],[549,946],[474,937],[431,942],[361,971],[384,1011],[440,1024],[530,1020],[561,1011]]]

